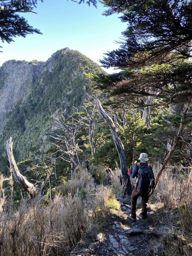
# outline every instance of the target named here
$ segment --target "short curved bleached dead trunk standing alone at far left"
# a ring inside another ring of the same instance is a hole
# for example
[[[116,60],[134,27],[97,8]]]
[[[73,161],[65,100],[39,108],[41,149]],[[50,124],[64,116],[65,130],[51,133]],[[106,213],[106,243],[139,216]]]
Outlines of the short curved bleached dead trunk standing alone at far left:
[[[26,177],[24,177],[19,172],[19,169],[15,162],[15,158],[13,156],[12,137],[10,137],[10,139],[7,141],[7,154],[8,154],[8,160],[10,163],[10,169],[11,169],[11,172],[13,172],[13,175],[16,181],[24,188],[24,190],[30,195],[30,197],[33,198],[36,194],[36,188],[34,187],[33,184],[29,183]]]

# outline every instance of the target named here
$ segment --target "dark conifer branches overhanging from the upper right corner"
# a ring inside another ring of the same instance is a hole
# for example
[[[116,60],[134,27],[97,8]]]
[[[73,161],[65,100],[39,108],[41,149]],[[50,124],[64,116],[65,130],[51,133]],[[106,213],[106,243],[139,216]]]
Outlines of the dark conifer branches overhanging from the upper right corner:
[[[191,1],[110,1],[111,13],[123,13],[126,31],[119,49],[106,53],[103,67],[126,70],[122,77],[103,79],[101,89],[118,95],[118,102],[131,100],[145,105],[141,97],[172,102],[191,98]],[[113,79],[112,79],[113,78]],[[99,83],[102,78],[100,77]],[[136,99],[136,100],[135,100]]]

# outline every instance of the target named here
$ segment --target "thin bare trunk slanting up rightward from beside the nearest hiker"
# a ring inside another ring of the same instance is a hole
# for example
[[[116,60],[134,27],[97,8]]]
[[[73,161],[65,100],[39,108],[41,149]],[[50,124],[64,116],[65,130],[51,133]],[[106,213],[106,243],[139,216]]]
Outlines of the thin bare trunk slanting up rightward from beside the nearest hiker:
[[[173,137],[171,143],[170,143],[170,147],[169,147],[169,150],[165,153],[165,158],[164,158],[164,161],[163,161],[163,164],[161,165],[161,167],[159,167],[158,171],[157,171],[157,174],[156,174],[156,177],[155,177],[155,188],[157,187],[157,184],[158,184],[158,181],[161,177],[161,174],[165,168],[165,166],[167,165],[169,159],[171,158],[173,152],[176,150],[176,147],[181,139],[181,136],[182,136],[182,132],[183,132],[183,126],[184,126],[184,122],[185,122],[185,118],[186,118],[186,114],[187,114],[187,110],[188,110],[188,107],[189,107],[189,104],[190,103],[187,103],[184,110],[183,110],[183,114],[182,114],[182,117],[181,117],[181,121],[180,121],[180,126],[177,130],[177,134],[175,137]]]

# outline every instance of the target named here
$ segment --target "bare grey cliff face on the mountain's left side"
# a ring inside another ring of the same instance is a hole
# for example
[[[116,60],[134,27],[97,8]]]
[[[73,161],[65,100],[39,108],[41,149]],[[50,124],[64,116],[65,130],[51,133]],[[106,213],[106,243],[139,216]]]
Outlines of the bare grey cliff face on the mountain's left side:
[[[45,63],[9,60],[0,68],[0,132],[19,99],[25,99]]]

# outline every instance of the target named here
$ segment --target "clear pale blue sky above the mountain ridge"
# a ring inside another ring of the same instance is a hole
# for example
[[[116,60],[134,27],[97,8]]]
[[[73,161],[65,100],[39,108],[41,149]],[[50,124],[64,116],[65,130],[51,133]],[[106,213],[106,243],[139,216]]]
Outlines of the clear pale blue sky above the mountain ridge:
[[[69,0],[44,0],[37,4],[34,13],[22,13],[28,23],[40,29],[43,35],[16,37],[15,42],[0,42],[0,66],[7,60],[37,59],[46,61],[51,55],[65,47],[77,50],[94,62],[107,51],[117,49],[121,32],[126,29],[118,16],[103,16],[105,7],[98,3],[97,9],[87,4],[77,4]],[[107,72],[114,72],[109,69]]]

